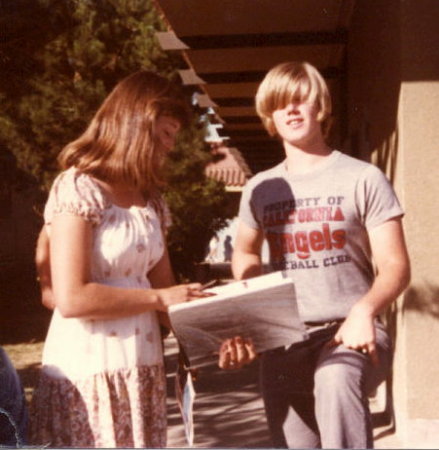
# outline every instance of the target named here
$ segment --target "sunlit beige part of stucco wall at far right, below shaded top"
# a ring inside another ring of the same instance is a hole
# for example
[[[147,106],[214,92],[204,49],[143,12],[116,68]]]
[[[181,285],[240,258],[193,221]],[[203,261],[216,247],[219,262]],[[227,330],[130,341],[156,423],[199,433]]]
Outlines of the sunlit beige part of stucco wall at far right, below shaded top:
[[[439,82],[404,82],[401,145],[412,283],[404,298],[400,339],[406,347],[407,418],[418,422],[439,421],[438,118]],[[439,422],[436,426],[438,443]]]

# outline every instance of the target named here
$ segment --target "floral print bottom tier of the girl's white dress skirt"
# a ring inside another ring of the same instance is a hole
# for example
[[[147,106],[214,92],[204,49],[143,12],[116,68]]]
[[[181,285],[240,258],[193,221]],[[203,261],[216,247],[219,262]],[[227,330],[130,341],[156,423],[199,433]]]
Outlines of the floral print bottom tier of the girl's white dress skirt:
[[[49,447],[165,447],[163,365],[72,382],[41,375],[31,404],[31,443]]]

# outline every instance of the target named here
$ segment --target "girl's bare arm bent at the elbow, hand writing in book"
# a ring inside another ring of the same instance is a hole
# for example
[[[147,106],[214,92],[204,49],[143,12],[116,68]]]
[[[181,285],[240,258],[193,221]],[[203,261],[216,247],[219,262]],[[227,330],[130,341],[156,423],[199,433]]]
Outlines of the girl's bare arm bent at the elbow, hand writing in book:
[[[190,299],[199,284],[164,289],[125,289],[90,280],[92,226],[77,216],[52,222],[50,260],[55,303],[65,317],[111,319],[148,310],[166,311]]]

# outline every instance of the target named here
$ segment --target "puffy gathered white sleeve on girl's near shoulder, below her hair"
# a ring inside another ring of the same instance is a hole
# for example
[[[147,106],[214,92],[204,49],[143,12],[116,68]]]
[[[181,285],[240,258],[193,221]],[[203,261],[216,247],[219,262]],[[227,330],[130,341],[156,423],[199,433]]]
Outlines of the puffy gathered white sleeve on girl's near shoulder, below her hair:
[[[106,202],[95,181],[87,174],[70,168],[53,182],[44,209],[44,221],[50,224],[56,215],[79,216],[93,225],[102,220]]]

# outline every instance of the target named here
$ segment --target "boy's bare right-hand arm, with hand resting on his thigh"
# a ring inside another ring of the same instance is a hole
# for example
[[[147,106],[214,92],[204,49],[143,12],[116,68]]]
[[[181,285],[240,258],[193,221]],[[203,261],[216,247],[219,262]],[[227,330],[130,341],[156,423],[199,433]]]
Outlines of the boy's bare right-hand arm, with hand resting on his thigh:
[[[336,344],[365,349],[377,363],[374,319],[403,292],[410,281],[410,262],[400,219],[369,231],[377,276],[370,290],[352,307],[334,337]]]

